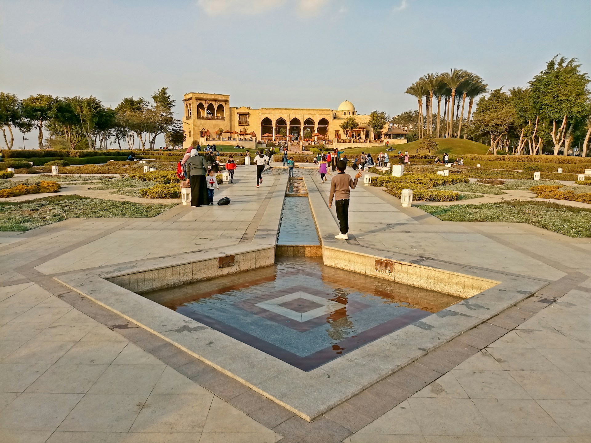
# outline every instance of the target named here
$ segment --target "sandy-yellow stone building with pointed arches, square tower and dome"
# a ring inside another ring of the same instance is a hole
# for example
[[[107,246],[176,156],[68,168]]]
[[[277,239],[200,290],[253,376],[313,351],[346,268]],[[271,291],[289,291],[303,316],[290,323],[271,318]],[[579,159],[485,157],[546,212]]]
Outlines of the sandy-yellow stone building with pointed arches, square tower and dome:
[[[304,139],[322,139],[339,143],[339,147],[384,143],[384,135],[391,128],[388,123],[382,131],[374,133],[368,125],[369,115],[359,115],[353,103],[342,102],[337,109],[323,108],[260,108],[250,106],[235,108],[230,106],[230,96],[225,94],[187,93],[183,97],[183,127],[187,133],[188,147],[192,140],[213,141],[219,139],[217,132],[222,132],[222,141],[240,142],[252,139],[287,140],[299,144]],[[359,123],[353,131],[343,131],[340,125],[349,117]],[[219,131],[219,130],[222,131]],[[307,131],[309,130],[309,131]],[[404,136],[397,134],[391,143],[404,143]],[[251,143],[252,144],[252,143]],[[249,145],[251,145],[249,144]],[[343,144],[343,145],[340,145]]]

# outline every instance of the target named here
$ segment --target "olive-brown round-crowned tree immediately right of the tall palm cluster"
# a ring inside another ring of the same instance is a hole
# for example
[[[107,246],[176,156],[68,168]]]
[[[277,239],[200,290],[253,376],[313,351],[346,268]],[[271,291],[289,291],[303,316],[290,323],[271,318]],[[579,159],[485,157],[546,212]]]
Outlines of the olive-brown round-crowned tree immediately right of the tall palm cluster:
[[[502,88],[495,89],[491,95],[480,97],[474,112],[473,124],[479,135],[491,137],[493,155],[501,145],[501,140],[508,135],[515,122],[515,109],[508,93],[502,92]]]

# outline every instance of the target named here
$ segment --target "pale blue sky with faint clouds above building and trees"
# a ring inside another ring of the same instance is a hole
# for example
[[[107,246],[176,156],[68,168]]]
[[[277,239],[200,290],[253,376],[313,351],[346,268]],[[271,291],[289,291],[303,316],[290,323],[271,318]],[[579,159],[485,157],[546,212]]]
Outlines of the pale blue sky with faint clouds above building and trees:
[[[0,0],[0,91],[115,107],[168,86],[177,105],[207,92],[230,106],[350,100],[397,115],[427,72],[525,86],[556,54],[589,72],[589,17],[589,0]]]

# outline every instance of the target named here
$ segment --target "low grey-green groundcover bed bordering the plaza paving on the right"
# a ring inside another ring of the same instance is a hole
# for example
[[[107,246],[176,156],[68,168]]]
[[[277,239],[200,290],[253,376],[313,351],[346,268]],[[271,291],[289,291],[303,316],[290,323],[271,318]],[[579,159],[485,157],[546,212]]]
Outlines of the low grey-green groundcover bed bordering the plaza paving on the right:
[[[452,206],[425,204],[420,208],[444,222],[529,223],[569,237],[591,237],[591,209],[558,203],[503,201]]]

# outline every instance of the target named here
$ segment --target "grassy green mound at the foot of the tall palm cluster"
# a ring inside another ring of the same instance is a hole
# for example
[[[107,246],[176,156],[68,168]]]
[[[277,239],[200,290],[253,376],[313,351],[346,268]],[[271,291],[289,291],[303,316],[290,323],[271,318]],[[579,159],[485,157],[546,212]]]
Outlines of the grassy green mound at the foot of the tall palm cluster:
[[[482,143],[473,142],[472,140],[464,140],[462,138],[436,138],[437,141],[437,151],[431,152],[431,154],[441,155],[443,152],[447,152],[452,158],[462,157],[463,155],[470,155],[470,154],[479,154],[485,155],[486,151],[488,151],[489,146],[483,145]],[[371,152],[371,155],[379,154],[380,152],[385,152],[386,148],[392,147],[395,149],[394,154],[398,154],[398,151],[408,151],[408,154],[417,154],[417,149],[419,154],[428,154],[429,152],[426,149],[420,149],[418,147],[418,141],[405,143],[402,145],[368,145],[363,148],[347,148],[345,149],[346,154],[361,154],[363,152]],[[392,152],[388,152],[388,154],[392,155]]]

